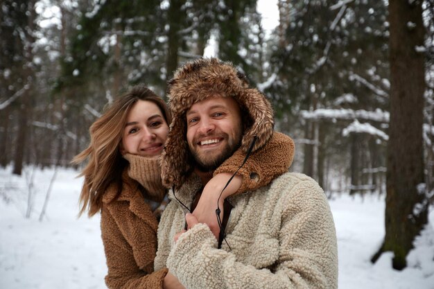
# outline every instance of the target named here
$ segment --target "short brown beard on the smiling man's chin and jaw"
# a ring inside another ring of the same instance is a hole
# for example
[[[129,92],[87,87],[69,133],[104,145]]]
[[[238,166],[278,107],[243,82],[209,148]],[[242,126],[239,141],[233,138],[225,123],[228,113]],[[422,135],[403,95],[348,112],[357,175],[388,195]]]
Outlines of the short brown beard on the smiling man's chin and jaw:
[[[236,150],[241,146],[241,134],[236,134],[238,139],[229,139],[227,137],[227,134],[225,134],[225,139],[228,139],[225,148],[218,153],[215,157],[207,157],[206,155],[202,153],[201,155],[198,153],[197,150],[190,148],[191,154],[193,155],[193,159],[196,161],[196,168],[201,170],[202,172],[210,172],[213,170],[216,170],[221,164],[223,164],[223,161],[225,161],[227,158],[232,156]]]

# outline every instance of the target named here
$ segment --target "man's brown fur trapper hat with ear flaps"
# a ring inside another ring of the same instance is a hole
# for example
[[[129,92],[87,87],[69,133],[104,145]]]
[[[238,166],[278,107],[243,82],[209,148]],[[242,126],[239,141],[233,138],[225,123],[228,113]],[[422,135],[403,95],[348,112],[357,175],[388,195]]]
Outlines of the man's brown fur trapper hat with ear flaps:
[[[165,186],[179,187],[193,169],[193,157],[186,141],[186,112],[194,103],[211,96],[232,97],[249,116],[241,149],[247,152],[254,137],[253,152],[270,139],[274,118],[272,107],[257,89],[230,62],[217,58],[200,58],[186,62],[168,82],[168,105],[172,123],[162,152],[162,181]],[[241,164],[240,164],[241,165]]]

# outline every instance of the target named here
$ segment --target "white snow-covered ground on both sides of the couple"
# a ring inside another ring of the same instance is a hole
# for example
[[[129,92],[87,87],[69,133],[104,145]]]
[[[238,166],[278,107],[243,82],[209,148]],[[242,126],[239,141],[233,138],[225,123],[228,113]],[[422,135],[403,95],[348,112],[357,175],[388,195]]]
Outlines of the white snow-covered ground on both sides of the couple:
[[[105,288],[107,270],[99,216],[78,215],[82,179],[60,169],[42,222],[38,219],[53,169],[26,168],[22,177],[0,169],[0,288]],[[32,182],[33,179],[33,182]],[[29,186],[33,184],[33,186]],[[25,218],[28,188],[34,202]],[[339,288],[434,288],[434,212],[408,255],[408,268],[392,270],[392,254],[370,257],[384,236],[384,198],[336,196],[330,200],[339,249]]]

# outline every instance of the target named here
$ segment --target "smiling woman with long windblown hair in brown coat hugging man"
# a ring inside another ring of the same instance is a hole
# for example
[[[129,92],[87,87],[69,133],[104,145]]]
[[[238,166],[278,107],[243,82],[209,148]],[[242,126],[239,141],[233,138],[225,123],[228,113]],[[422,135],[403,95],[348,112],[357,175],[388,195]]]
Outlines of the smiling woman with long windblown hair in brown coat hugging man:
[[[164,100],[144,86],[133,87],[91,125],[89,146],[73,159],[75,164],[87,160],[80,173],[85,177],[80,214],[88,211],[89,216],[94,216],[101,211],[108,288],[162,288],[167,269],[153,272],[153,261],[158,220],[166,205],[158,157],[167,138],[168,123],[171,114]],[[276,158],[268,164],[263,160],[255,163],[255,157],[250,157],[225,189],[225,196],[263,186],[288,169],[293,159],[293,141],[282,136],[274,142],[272,137],[263,148],[275,150]],[[237,151],[234,156],[240,154]],[[216,236],[215,208],[207,208],[205,204],[216,204],[225,181],[238,168],[231,164],[230,158],[222,166],[219,170],[225,173],[211,179],[193,211]],[[261,175],[260,168],[269,166],[272,171]],[[215,202],[202,202],[206,198]]]

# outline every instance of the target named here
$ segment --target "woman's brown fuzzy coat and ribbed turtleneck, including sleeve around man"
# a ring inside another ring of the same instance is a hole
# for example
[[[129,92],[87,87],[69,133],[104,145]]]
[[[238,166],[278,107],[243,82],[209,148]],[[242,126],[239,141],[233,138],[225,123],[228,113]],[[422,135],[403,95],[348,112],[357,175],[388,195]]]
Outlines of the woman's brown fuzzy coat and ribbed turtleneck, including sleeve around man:
[[[265,155],[268,158],[264,159]],[[238,170],[238,174],[243,175],[243,183],[237,193],[257,189],[285,173],[293,156],[292,139],[284,134],[273,134],[266,146],[254,152]],[[167,269],[153,272],[158,227],[155,213],[164,207],[155,209],[154,205],[162,202],[165,194],[159,160],[134,155],[124,157],[130,166],[123,172],[121,195],[114,200],[116,186],[112,185],[103,196],[101,234],[108,268],[105,283],[110,289],[162,288]],[[234,173],[243,157],[243,152],[237,150],[216,173]]]

